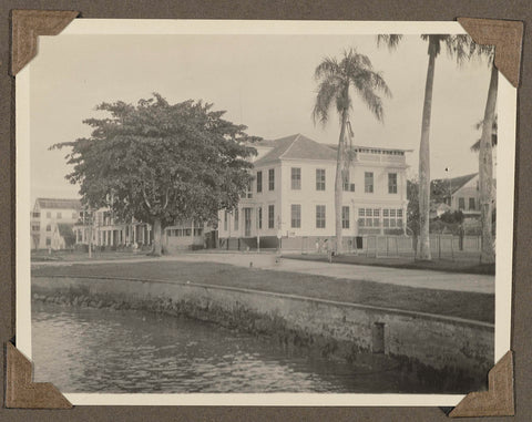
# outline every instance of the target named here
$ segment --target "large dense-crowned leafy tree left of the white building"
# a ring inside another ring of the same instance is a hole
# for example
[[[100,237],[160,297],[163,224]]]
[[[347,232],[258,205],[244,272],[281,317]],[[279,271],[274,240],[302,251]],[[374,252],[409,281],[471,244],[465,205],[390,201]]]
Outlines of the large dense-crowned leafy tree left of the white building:
[[[216,224],[217,212],[233,208],[250,181],[247,159],[256,138],[192,100],[168,104],[158,94],[136,105],[102,103],[104,119],[84,121],[90,137],[55,144],[70,147],[66,178],[80,185],[91,208],[109,207],[121,220],[150,223],[154,255],[161,235],[176,220]]]

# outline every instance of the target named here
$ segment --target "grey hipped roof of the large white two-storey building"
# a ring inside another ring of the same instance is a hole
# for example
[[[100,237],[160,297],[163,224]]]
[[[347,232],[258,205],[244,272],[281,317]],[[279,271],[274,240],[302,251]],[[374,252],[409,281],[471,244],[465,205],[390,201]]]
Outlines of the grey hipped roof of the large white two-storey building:
[[[336,152],[325,144],[313,141],[300,133],[275,141],[262,141],[257,145],[270,146],[273,150],[257,159],[255,166],[288,159],[330,159],[336,161]]]

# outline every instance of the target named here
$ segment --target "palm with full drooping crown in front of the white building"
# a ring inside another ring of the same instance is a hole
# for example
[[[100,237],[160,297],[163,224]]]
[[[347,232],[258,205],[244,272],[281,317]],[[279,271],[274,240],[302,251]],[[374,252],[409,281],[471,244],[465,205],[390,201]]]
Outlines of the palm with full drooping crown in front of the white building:
[[[351,109],[351,89],[359,94],[364,103],[378,121],[383,119],[382,100],[380,92],[391,96],[390,90],[382,75],[372,70],[371,61],[367,55],[355,49],[344,51],[342,58],[326,58],[316,68],[315,79],[319,83],[316,103],[313,111],[314,123],[319,121],[324,126],[329,120],[329,110],[335,103],[340,117],[340,136],[335,177],[335,217],[336,217],[336,253],[341,254],[341,205],[342,205],[342,175],[346,158],[346,133],[350,131],[349,111]]]

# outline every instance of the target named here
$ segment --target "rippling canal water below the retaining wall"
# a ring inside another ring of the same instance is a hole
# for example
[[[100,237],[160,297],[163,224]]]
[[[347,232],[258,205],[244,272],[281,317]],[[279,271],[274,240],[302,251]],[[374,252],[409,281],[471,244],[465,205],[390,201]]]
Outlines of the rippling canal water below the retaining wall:
[[[66,393],[415,392],[371,370],[185,318],[32,303],[35,381]],[[427,392],[427,390],[423,390]]]

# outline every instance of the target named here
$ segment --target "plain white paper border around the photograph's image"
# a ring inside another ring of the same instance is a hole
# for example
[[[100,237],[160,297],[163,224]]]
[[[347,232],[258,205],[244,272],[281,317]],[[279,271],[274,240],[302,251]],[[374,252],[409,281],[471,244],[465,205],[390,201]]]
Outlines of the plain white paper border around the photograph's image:
[[[119,20],[75,19],[55,37],[72,34],[430,34],[467,33],[458,22],[393,21],[266,21],[266,20]],[[31,63],[16,76],[16,332],[17,348],[31,359],[30,264],[30,72]],[[511,344],[514,163],[518,90],[499,79],[497,271],[494,362]],[[504,147],[501,147],[504,145]],[[505,229],[508,226],[509,229]],[[60,347],[60,344],[58,344]],[[53,382],[53,380],[49,380]],[[463,394],[100,394],[64,393],[75,405],[290,405],[290,406],[453,406]]]

